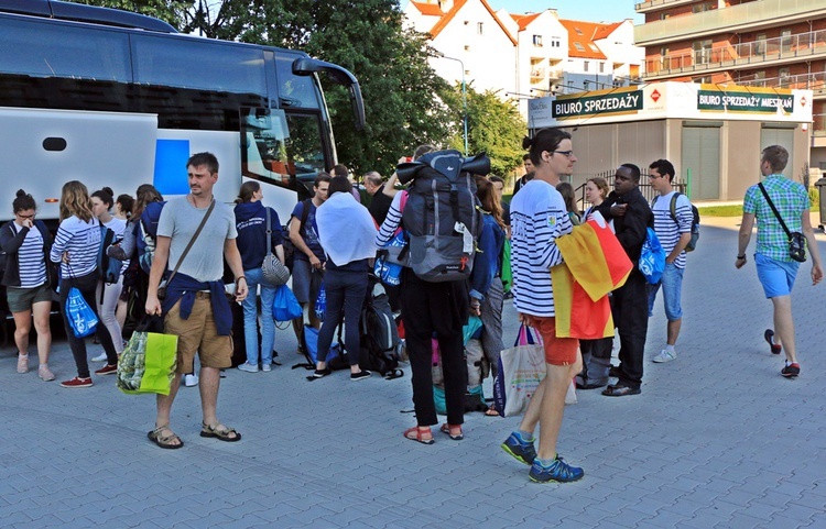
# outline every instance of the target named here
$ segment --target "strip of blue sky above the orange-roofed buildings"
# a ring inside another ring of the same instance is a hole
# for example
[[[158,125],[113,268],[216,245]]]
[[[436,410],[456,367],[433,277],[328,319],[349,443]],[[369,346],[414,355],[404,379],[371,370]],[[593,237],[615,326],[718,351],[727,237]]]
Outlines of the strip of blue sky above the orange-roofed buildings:
[[[643,15],[637,14],[634,4],[642,0],[488,0],[493,11],[504,8],[509,13],[539,13],[546,9],[556,9],[561,19],[584,20],[588,22],[619,22],[632,19],[634,24],[643,22]],[[406,2],[402,1],[402,4]]]

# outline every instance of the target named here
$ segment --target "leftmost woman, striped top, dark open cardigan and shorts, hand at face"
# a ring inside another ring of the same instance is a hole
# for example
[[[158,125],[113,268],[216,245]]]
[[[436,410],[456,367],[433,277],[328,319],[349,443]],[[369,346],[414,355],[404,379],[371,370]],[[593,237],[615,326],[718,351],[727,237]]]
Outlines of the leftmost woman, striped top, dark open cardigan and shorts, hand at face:
[[[14,317],[18,373],[29,372],[29,332],[34,317],[40,360],[37,375],[45,382],[54,381],[54,374],[48,370],[48,353],[52,349],[48,315],[52,309],[51,285],[56,277],[53,277],[55,271],[47,266],[46,258],[52,246],[52,235],[46,224],[34,220],[36,206],[31,195],[19,190],[12,208],[14,220],[0,228],[0,246],[6,252],[2,284],[7,287],[9,309]]]

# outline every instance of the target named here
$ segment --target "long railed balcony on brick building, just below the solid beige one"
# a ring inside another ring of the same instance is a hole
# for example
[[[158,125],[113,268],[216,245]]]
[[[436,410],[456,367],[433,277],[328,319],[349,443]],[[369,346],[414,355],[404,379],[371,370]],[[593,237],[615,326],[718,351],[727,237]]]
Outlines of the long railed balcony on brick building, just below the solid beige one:
[[[645,80],[826,58],[826,30],[645,59]]]

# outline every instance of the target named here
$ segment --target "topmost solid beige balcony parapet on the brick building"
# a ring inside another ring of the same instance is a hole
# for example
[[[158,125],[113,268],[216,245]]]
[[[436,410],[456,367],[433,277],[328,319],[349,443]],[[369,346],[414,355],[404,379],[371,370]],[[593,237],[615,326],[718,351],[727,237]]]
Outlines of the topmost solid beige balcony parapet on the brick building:
[[[742,33],[826,15],[823,0],[760,0],[634,26],[638,46],[653,46],[717,33]]]

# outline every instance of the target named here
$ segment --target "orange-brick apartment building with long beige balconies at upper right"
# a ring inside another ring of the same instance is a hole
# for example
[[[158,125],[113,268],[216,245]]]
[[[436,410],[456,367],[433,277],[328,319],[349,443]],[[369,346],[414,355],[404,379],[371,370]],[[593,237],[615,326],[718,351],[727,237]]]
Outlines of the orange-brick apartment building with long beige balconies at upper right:
[[[645,15],[634,34],[648,82],[812,90],[802,103],[812,106],[813,122],[800,132],[808,135],[811,166],[826,170],[825,0],[646,0],[635,8]],[[792,142],[795,130],[757,126],[748,134],[761,144]]]

